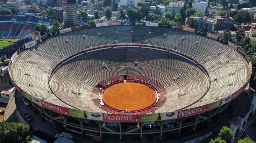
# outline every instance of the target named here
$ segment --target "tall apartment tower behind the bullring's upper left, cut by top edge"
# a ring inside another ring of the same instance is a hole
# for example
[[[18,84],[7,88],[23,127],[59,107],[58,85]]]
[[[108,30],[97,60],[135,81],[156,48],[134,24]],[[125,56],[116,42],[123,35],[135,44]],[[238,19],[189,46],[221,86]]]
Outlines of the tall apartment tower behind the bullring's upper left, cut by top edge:
[[[76,9],[76,1],[75,0],[69,0],[66,3],[66,21],[73,22],[75,25],[78,25],[78,18],[77,18],[77,9]],[[64,19],[64,13],[63,13],[63,19]]]

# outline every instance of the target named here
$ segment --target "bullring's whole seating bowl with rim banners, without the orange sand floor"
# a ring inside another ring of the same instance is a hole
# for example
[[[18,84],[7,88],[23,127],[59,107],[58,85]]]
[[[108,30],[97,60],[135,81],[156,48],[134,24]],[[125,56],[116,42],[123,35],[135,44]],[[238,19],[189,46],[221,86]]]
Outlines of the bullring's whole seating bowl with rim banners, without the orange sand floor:
[[[181,26],[100,23],[63,29],[42,40],[12,56],[12,83],[34,104],[91,120],[144,122],[157,121],[159,115],[170,120],[204,113],[236,98],[252,73],[241,48]],[[102,62],[109,67],[106,72]],[[123,80],[125,73],[129,80],[155,86],[157,104],[131,115],[99,104],[100,90],[95,85]],[[172,81],[177,75],[181,78]]]

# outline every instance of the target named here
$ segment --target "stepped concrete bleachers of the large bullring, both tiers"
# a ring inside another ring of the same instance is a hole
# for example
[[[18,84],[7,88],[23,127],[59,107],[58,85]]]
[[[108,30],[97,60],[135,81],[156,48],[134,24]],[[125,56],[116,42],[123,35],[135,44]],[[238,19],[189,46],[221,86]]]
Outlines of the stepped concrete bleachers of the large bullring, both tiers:
[[[29,27],[31,25],[25,26],[26,32]],[[47,102],[68,108],[72,108],[71,105],[84,111],[120,113],[99,104],[100,91],[95,85],[122,80],[121,75],[127,73],[128,79],[146,81],[156,87],[160,94],[159,102],[152,109],[138,114],[150,113],[153,110],[155,113],[162,113],[213,103],[216,98],[230,96],[248,80],[250,72],[247,62],[227,45],[184,31],[160,29],[147,26],[113,26],[61,34],[19,54],[11,65],[10,76],[22,90],[41,99],[44,96]],[[149,35],[149,32],[152,34]],[[167,36],[163,37],[163,34]],[[181,37],[185,39],[181,40]],[[67,39],[69,43],[65,42]],[[61,59],[86,48],[86,44],[90,47],[114,44],[117,39],[119,43],[144,44],[147,40],[153,45],[171,48],[175,46],[176,50],[203,62],[210,79],[217,80],[209,82],[197,65],[175,54],[127,47],[90,52],[69,60],[53,74],[49,86],[49,73]],[[198,41],[198,44],[195,45],[195,41]],[[220,54],[216,55],[217,52]],[[138,59],[136,68],[133,66],[135,59]],[[104,70],[102,62],[105,62],[108,70]],[[230,76],[233,72],[236,74]],[[173,81],[177,75],[181,77]],[[230,83],[231,85],[227,86]],[[63,102],[47,92],[51,90]],[[74,94],[71,90],[79,91],[81,95]],[[184,92],[187,94],[178,96]]]

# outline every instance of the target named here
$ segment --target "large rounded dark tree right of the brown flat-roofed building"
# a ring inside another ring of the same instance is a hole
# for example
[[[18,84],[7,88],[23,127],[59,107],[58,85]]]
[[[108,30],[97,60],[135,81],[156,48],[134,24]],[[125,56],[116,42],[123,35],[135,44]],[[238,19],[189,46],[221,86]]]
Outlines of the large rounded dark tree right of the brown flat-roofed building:
[[[252,15],[247,10],[239,11],[233,16],[234,21],[238,23],[247,23],[252,21]]]

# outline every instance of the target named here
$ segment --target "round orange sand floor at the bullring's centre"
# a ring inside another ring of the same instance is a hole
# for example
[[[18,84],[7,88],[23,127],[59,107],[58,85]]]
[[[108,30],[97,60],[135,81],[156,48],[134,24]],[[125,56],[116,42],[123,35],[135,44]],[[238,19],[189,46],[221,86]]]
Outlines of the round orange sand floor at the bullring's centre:
[[[103,93],[103,101],[118,110],[145,109],[156,100],[156,92],[144,84],[126,82],[114,84]]]

